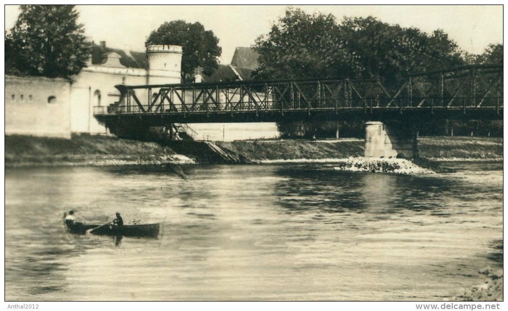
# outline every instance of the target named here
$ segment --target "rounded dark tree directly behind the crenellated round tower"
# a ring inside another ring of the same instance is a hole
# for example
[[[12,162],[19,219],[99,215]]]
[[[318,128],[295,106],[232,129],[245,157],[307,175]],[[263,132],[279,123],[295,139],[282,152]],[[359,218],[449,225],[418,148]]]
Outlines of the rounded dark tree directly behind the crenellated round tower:
[[[222,53],[218,42],[213,32],[205,30],[201,23],[174,20],[165,22],[151,32],[145,45],[180,45],[183,51],[182,78],[189,81],[198,67],[203,69],[205,75],[211,75],[218,68],[218,57]]]

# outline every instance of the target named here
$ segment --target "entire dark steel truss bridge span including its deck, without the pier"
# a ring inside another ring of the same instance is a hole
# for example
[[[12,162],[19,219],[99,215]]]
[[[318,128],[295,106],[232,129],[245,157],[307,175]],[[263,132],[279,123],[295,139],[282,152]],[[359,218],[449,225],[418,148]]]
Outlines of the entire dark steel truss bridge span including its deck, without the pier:
[[[502,119],[502,65],[474,65],[379,79],[234,81],[117,85],[118,102],[94,107],[112,128],[170,123],[430,118]]]

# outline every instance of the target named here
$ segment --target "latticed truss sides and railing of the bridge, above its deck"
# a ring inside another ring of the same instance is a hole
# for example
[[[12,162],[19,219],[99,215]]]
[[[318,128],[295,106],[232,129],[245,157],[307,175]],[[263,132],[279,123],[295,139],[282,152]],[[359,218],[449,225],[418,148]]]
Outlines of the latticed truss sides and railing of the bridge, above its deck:
[[[383,109],[502,108],[502,66],[467,66],[379,79],[118,85],[120,99],[94,114],[204,114]]]

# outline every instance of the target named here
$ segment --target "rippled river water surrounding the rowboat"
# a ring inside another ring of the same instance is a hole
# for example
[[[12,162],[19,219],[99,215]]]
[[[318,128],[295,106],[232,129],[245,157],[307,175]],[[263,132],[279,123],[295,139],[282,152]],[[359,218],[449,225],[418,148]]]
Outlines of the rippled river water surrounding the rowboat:
[[[456,173],[333,165],[6,169],[5,299],[443,300],[502,267],[502,163]],[[161,223],[66,233],[62,215]]]

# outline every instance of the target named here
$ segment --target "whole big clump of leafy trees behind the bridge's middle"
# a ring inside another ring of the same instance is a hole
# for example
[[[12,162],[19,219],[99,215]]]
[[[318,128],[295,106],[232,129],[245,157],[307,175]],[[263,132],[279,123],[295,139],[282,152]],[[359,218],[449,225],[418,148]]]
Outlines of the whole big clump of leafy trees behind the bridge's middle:
[[[464,64],[457,44],[440,29],[428,35],[374,17],[345,18],[337,23],[331,14],[310,15],[294,8],[288,8],[253,49],[260,54],[253,74],[256,79],[375,78],[392,92],[409,73]],[[345,123],[300,122],[279,125],[279,129],[293,131],[283,135],[301,136],[316,129],[335,133],[336,124]]]

